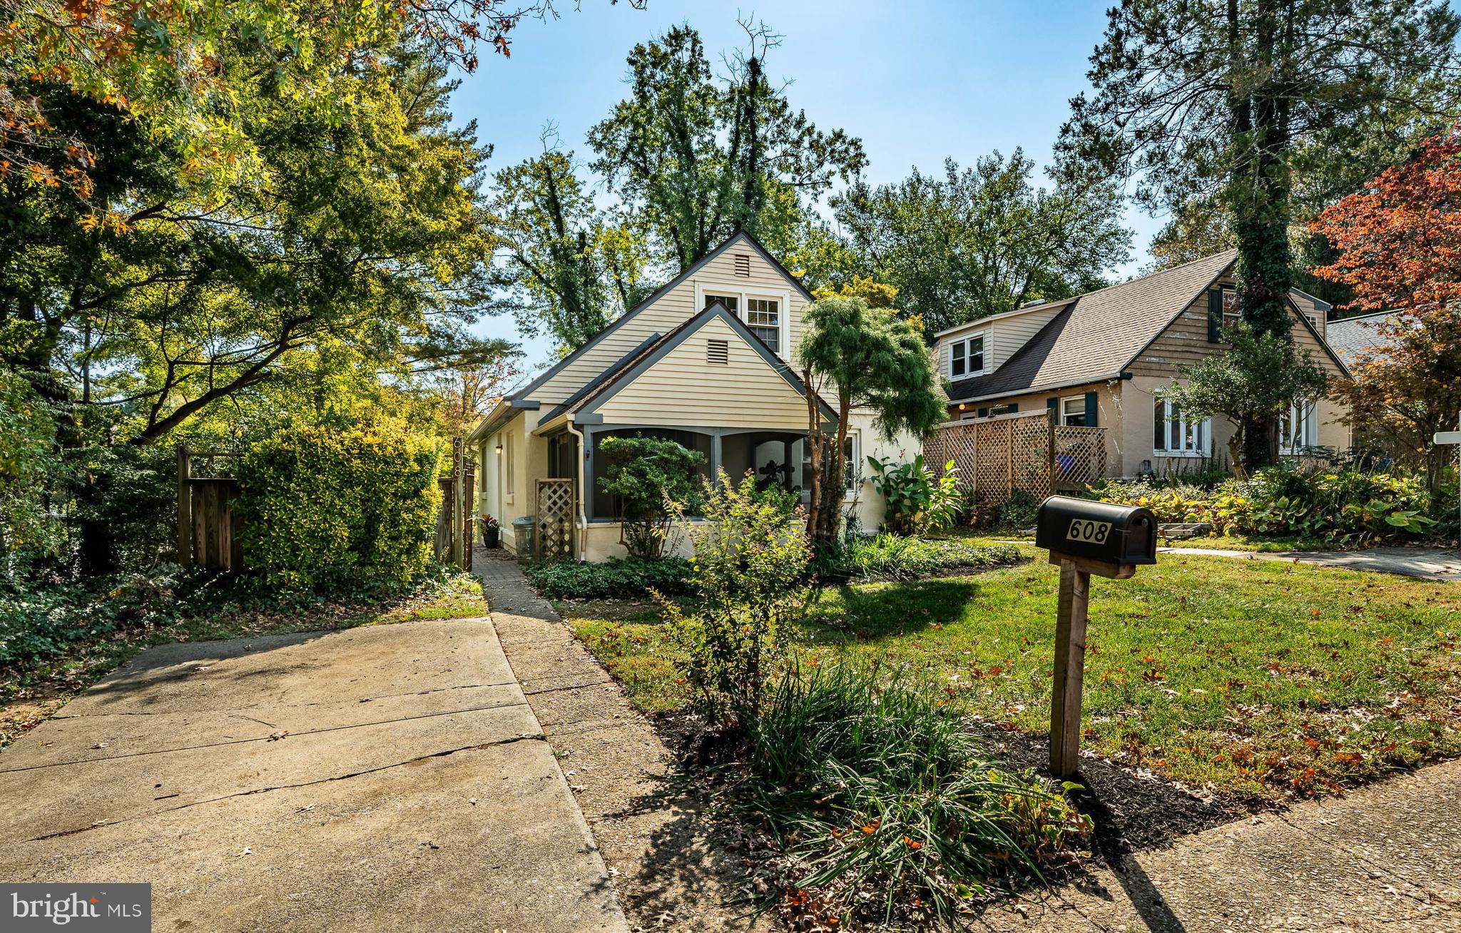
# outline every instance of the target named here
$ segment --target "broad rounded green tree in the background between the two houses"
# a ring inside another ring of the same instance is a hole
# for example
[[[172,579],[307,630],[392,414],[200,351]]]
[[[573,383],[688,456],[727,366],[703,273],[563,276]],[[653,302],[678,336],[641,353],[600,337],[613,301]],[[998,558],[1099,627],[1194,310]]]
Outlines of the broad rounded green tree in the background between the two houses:
[[[1099,288],[1126,260],[1131,234],[1109,183],[1031,183],[1034,162],[998,152],[942,178],[918,169],[893,185],[855,184],[834,200],[858,272],[897,286],[929,333]]]

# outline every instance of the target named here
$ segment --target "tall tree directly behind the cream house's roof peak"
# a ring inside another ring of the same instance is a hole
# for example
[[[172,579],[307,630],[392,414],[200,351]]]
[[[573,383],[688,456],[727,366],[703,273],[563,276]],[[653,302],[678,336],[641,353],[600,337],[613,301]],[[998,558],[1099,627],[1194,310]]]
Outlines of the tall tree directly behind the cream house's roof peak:
[[[589,131],[593,168],[627,209],[643,213],[674,272],[735,231],[760,234],[785,218],[785,193],[812,201],[866,164],[861,140],[823,133],[792,108],[766,76],[776,37],[744,25],[749,45],[733,55],[726,80],[690,26],[636,45],[630,96]]]

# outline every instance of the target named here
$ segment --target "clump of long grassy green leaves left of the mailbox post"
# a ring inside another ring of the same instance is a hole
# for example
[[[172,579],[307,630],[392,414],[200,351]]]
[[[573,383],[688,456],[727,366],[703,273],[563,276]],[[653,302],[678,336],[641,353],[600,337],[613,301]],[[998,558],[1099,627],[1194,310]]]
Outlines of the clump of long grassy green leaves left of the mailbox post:
[[[843,664],[770,692],[723,771],[730,812],[787,857],[787,902],[821,905],[844,929],[953,921],[1040,879],[1090,831],[1065,797],[1072,784],[992,759],[938,696]]]

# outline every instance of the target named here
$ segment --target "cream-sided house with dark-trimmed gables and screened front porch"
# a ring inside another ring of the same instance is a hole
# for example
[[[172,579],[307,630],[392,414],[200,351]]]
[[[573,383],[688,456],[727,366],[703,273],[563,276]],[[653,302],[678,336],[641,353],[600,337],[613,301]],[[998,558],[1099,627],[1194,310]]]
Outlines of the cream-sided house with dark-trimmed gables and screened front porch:
[[[605,438],[636,434],[700,451],[706,476],[754,470],[805,501],[808,407],[789,361],[811,301],[761,244],[736,234],[487,415],[470,435],[482,464],[478,511],[501,521],[511,548],[511,521],[536,511],[538,480],[573,480],[574,553],[624,556],[598,463]],[[865,456],[901,461],[919,451],[912,437],[878,438],[869,412],[853,412],[850,425],[853,467]],[[863,473],[852,470],[847,502],[874,529],[884,502]]]

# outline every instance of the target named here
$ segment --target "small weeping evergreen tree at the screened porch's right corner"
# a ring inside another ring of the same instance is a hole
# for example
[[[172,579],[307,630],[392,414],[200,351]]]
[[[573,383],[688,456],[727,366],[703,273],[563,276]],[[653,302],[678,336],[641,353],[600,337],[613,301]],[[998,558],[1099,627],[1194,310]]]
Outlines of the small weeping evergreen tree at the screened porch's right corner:
[[[806,531],[825,543],[836,536],[847,486],[840,451],[847,444],[852,409],[872,409],[878,432],[893,439],[900,431],[931,434],[944,421],[945,407],[923,334],[893,308],[874,308],[861,296],[828,296],[808,305],[796,362],[806,384],[806,447],[812,467]],[[837,396],[831,456],[817,404],[821,390]]]

